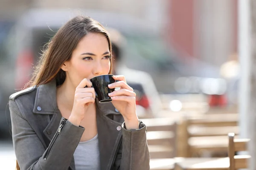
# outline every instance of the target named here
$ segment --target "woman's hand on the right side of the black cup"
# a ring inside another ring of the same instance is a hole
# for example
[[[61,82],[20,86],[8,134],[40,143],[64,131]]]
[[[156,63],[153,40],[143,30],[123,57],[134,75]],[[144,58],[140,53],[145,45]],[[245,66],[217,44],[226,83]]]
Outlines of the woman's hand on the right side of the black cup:
[[[108,87],[120,88],[120,90],[108,94],[112,99],[112,104],[124,117],[127,129],[138,128],[139,120],[136,113],[136,94],[133,88],[127,85],[124,76],[113,76],[113,79],[119,81],[108,85]]]

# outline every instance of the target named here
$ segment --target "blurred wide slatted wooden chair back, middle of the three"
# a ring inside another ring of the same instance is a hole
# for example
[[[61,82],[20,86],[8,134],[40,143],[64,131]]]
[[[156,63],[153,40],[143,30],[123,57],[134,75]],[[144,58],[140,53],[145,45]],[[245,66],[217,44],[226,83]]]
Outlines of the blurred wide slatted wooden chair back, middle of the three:
[[[177,156],[217,152],[227,155],[227,133],[239,134],[238,114],[212,114],[182,119],[177,127]]]

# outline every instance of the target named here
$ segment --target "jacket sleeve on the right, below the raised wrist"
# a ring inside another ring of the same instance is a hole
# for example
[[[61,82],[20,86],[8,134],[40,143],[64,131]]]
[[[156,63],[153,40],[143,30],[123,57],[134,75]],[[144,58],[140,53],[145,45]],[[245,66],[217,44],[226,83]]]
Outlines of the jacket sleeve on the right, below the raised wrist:
[[[125,129],[122,124],[122,159],[120,170],[149,170],[149,152],[146,125],[140,121],[139,129]]]

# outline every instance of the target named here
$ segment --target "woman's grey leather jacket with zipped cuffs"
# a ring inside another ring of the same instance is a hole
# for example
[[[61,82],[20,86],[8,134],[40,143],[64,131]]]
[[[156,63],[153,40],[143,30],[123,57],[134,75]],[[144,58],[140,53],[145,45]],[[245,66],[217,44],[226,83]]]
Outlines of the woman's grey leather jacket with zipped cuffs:
[[[31,87],[9,98],[12,138],[21,170],[76,170],[73,153],[84,127],[61,116],[55,80]],[[112,103],[96,99],[101,170],[149,170],[146,126],[125,129]],[[122,127],[122,128],[120,128]]]

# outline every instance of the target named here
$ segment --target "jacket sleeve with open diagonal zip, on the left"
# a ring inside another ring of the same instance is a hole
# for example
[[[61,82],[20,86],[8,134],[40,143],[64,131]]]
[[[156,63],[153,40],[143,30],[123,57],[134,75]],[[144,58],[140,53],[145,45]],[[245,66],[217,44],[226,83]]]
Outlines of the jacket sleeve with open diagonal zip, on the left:
[[[12,121],[12,139],[20,169],[67,170],[84,128],[73,125],[62,117],[61,128],[58,128],[49,147],[45,149],[21,112],[17,100],[9,101],[9,109]]]

